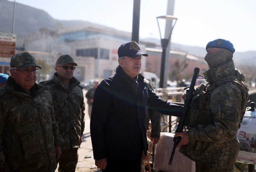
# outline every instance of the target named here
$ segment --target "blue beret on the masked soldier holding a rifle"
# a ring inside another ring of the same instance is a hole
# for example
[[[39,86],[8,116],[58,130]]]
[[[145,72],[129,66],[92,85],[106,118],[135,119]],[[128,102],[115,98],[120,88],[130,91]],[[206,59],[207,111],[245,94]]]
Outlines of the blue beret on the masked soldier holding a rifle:
[[[232,53],[235,52],[234,45],[225,39],[215,39],[214,41],[208,42],[206,45],[206,51],[208,48],[224,48],[231,51]]]

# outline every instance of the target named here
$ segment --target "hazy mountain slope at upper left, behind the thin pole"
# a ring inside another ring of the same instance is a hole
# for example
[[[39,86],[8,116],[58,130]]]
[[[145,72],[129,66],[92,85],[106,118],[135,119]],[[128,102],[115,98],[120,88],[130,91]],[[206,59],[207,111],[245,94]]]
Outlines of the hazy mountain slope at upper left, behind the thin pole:
[[[0,32],[12,32],[12,18],[13,2],[0,0]],[[56,20],[44,10],[16,3],[14,30],[18,37],[22,37],[27,33],[37,32],[40,28],[55,30],[56,23],[61,23],[64,27],[92,24],[80,20]]]

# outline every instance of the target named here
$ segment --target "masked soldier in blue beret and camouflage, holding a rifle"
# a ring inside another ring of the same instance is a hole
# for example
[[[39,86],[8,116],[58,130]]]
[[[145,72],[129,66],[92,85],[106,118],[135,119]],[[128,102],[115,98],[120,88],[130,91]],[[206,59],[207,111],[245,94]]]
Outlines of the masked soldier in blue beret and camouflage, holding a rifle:
[[[236,137],[246,110],[248,89],[244,75],[235,68],[233,44],[216,39],[206,46],[210,69],[204,73],[208,83],[194,92],[186,120],[189,130],[177,147],[195,161],[197,172],[233,172],[240,149]],[[182,98],[186,98],[185,92]]]

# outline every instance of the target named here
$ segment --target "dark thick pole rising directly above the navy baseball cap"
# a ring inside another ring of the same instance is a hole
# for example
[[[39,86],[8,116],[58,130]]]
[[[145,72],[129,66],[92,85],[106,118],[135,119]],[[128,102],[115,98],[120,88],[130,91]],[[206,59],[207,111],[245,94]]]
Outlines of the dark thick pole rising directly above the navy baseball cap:
[[[139,18],[141,12],[141,0],[133,0],[133,19],[132,19],[132,41],[139,44]]]

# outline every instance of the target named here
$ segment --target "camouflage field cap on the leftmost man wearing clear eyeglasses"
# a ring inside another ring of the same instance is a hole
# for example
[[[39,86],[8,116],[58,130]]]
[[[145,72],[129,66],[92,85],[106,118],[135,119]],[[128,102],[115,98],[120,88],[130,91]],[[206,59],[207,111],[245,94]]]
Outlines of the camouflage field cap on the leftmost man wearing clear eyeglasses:
[[[20,52],[15,54],[10,61],[10,67],[18,67],[19,69],[27,69],[29,67],[36,66],[39,69],[42,69],[37,65],[36,59],[33,55],[28,52]]]

